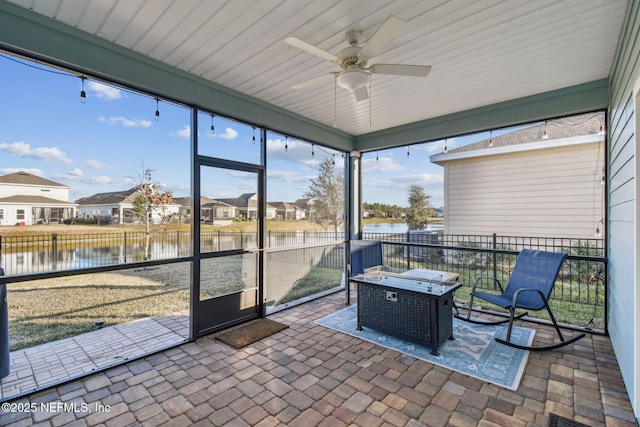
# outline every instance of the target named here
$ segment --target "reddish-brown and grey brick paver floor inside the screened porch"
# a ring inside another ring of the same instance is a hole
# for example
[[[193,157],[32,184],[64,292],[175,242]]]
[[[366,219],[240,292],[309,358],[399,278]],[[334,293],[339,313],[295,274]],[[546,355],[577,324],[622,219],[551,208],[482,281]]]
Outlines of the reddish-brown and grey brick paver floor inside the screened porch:
[[[607,337],[532,352],[511,391],[314,323],[343,307],[331,295],[270,316],[290,327],[241,350],[209,336],[8,402],[34,410],[0,424],[547,426],[555,413],[637,425]]]

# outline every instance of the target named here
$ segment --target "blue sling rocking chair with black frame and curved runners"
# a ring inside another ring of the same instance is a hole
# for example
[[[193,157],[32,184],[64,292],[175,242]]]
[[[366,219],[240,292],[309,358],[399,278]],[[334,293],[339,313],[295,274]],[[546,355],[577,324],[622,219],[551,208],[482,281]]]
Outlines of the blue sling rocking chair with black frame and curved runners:
[[[568,340],[564,339],[548,303],[549,296],[551,295],[551,291],[553,290],[553,286],[556,281],[556,277],[558,276],[558,272],[560,271],[560,267],[562,266],[562,262],[565,258],[566,255],[561,253],[523,249],[520,252],[520,255],[518,255],[516,265],[513,269],[513,272],[511,273],[511,277],[509,278],[506,289],[503,290],[500,281],[494,277],[477,277],[475,282],[473,283],[473,288],[471,290],[471,300],[469,301],[469,311],[467,312],[467,316],[463,317],[457,314],[456,317],[468,322],[487,325],[497,325],[509,322],[507,339],[503,340],[500,338],[496,338],[496,341],[501,344],[505,344],[522,350],[553,350],[556,348],[564,347],[565,345],[579,340],[580,338],[584,337],[585,334],[582,333],[576,335]],[[500,295],[497,295],[486,292],[477,292],[476,286],[478,285],[478,282],[483,279],[493,280],[494,283],[498,285],[502,293]],[[481,298],[492,304],[508,309],[509,318],[497,322],[472,319],[471,309],[473,307],[474,297]],[[543,308],[545,308],[549,313],[551,322],[553,322],[553,326],[556,329],[561,342],[549,346],[533,347],[512,343],[510,340],[513,321],[516,319],[520,319],[521,317],[528,314],[527,312],[525,312],[516,315],[516,309],[538,311],[542,310]]]

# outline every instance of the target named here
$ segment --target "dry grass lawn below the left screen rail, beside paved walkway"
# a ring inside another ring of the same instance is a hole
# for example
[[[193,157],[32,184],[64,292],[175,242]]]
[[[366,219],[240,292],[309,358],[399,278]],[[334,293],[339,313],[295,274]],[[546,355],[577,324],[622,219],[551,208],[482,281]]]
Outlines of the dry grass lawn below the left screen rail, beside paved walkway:
[[[189,308],[189,265],[170,264],[12,283],[11,351]]]

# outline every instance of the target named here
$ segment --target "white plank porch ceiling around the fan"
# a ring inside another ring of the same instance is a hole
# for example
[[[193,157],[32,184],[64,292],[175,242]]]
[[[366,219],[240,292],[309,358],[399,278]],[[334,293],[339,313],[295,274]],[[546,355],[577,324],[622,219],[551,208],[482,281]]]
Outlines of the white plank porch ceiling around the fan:
[[[11,0],[217,84],[352,135],[609,76],[628,0]],[[348,30],[367,40],[407,22],[372,63],[431,65],[424,78],[372,75],[356,102],[334,79]],[[335,94],[335,97],[334,97]]]

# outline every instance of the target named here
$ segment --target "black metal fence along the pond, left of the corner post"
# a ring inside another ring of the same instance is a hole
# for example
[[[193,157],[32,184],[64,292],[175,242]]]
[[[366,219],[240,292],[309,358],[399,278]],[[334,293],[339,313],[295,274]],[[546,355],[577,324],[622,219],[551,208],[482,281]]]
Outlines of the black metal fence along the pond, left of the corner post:
[[[267,247],[286,247],[342,240],[342,232],[276,232],[266,234]],[[203,232],[202,252],[256,248],[255,232]],[[7,275],[45,273],[191,255],[189,232],[122,232],[0,236],[0,265]]]

